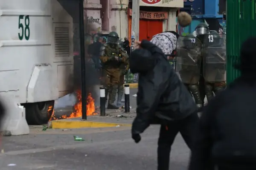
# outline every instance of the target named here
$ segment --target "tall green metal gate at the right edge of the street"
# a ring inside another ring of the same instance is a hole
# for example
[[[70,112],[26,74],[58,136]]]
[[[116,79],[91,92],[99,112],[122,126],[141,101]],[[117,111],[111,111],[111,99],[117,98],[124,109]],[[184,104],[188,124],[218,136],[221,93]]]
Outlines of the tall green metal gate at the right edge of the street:
[[[239,62],[240,46],[256,36],[256,0],[227,0],[227,83],[240,76],[233,68]]]

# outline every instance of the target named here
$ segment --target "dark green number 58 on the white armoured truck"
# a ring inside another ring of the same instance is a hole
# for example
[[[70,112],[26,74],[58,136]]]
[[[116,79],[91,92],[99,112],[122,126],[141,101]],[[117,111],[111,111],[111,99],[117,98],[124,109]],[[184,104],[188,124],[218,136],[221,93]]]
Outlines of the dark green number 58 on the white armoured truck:
[[[18,28],[20,32],[18,33],[19,39],[23,40],[25,37],[25,40],[29,40],[30,37],[30,28],[29,28],[29,15],[20,15],[19,16],[19,23]]]

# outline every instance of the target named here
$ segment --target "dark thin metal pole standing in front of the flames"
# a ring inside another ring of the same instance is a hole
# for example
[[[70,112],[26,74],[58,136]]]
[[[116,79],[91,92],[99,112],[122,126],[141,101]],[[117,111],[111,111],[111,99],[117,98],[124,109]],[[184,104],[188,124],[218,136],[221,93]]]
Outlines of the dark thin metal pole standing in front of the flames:
[[[82,119],[87,120],[86,105],[86,79],[85,79],[85,50],[84,50],[84,1],[79,0],[79,33],[80,33],[80,57],[81,57],[81,102]]]

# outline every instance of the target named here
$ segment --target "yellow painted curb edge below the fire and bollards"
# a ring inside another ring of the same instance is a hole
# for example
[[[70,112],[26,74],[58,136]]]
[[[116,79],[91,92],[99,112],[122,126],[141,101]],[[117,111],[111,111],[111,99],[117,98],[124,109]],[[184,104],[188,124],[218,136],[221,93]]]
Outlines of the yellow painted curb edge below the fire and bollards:
[[[89,122],[89,121],[59,121],[54,120],[48,122],[48,128],[52,129],[78,129],[78,128],[99,128],[99,127],[116,127],[116,126],[131,126],[130,124],[117,124],[107,122]]]

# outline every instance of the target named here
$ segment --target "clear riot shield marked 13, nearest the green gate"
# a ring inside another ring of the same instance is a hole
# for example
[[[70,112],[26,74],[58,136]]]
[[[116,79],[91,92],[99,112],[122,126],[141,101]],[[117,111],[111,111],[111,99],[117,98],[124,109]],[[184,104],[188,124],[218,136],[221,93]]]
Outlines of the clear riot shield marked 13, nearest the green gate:
[[[207,82],[226,81],[226,34],[208,34],[204,38],[203,74]]]

